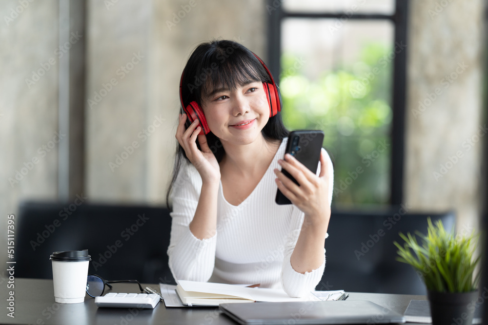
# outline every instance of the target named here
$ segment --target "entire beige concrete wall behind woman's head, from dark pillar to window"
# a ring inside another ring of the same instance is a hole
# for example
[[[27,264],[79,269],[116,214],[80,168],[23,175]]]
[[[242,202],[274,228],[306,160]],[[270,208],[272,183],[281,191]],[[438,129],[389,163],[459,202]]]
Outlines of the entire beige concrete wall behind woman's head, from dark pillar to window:
[[[164,203],[184,63],[212,38],[235,39],[263,54],[263,3],[88,1],[87,99],[96,103],[86,108],[92,201]],[[132,67],[134,53],[141,58]]]

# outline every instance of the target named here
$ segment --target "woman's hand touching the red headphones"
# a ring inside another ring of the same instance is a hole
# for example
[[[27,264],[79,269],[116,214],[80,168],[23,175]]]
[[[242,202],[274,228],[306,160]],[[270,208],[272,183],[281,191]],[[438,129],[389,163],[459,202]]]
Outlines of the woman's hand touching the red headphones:
[[[198,119],[190,124],[185,130],[184,123],[186,121],[186,114],[180,114],[180,122],[176,130],[176,139],[183,147],[186,157],[195,166],[200,173],[203,182],[219,182],[220,181],[220,166],[208,147],[207,138],[205,135],[199,135],[201,127],[198,126]],[[197,140],[200,144],[201,150],[197,147]]]

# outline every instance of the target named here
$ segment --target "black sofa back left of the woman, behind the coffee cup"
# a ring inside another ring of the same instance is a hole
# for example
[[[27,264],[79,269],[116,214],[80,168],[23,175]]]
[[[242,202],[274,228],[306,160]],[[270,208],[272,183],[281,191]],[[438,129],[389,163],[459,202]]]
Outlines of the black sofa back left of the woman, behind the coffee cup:
[[[16,219],[16,276],[50,279],[53,251],[88,249],[88,272],[106,280],[175,283],[165,208],[29,201]]]

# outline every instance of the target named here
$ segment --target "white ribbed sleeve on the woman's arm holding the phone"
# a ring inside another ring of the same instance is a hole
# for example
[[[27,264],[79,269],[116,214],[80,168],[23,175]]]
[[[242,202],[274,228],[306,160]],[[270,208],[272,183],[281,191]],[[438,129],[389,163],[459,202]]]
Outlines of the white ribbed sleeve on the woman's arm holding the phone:
[[[324,150],[324,149],[323,149]],[[325,151],[325,150],[324,150]],[[332,191],[334,184],[334,170],[332,166],[332,161],[328,154],[328,172],[329,172],[329,191],[328,191],[328,201],[329,206],[332,203]],[[320,164],[317,174],[320,173]],[[303,297],[307,292],[312,291],[322,279],[322,274],[325,269],[325,249],[324,249],[324,262],[319,268],[312,270],[311,272],[305,272],[304,274],[299,273],[293,269],[291,266],[291,254],[295,249],[295,245],[300,235],[302,229],[302,224],[304,222],[305,215],[298,208],[294,207],[291,217],[290,231],[286,238],[284,260],[281,272],[282,287],[285,292],[290,297]],[[325,238],[328,237],[328,233]]]

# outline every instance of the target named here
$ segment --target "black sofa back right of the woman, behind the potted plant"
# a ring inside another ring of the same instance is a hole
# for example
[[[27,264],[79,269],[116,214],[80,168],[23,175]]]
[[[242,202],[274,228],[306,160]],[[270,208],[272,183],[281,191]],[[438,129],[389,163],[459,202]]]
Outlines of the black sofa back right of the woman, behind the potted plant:
[[[454,212],[411,213],[402,207],[381,211],[333,210],[325,240],[325,271],[317,290],[426,294],[415,270],[396,260],[399,232],[427,233],[427,217],[450,231]]]

